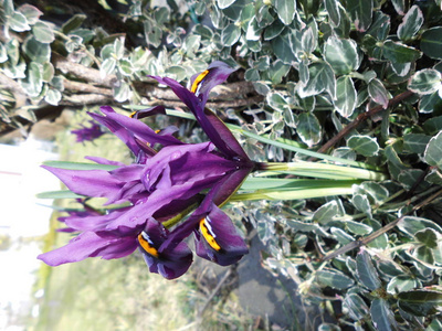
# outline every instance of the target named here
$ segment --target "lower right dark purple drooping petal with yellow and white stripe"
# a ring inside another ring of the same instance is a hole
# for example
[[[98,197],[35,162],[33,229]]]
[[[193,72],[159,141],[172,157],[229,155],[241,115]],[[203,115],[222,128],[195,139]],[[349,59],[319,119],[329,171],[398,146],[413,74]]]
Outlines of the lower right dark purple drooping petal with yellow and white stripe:
[[[210,213],[199,222],[196,232],[198,256],[229,266],[249,253],[244,239],[238,234],[229,216],[214,204]]]

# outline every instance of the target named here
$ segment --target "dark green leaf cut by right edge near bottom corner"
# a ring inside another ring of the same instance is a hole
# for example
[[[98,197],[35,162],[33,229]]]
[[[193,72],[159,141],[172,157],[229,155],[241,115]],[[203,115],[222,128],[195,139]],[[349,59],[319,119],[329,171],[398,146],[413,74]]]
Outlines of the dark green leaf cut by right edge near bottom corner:
[[[408,313],[428,317],[438,313],[442,307],[442,292],[413,290],[398,295],[399,307]]]

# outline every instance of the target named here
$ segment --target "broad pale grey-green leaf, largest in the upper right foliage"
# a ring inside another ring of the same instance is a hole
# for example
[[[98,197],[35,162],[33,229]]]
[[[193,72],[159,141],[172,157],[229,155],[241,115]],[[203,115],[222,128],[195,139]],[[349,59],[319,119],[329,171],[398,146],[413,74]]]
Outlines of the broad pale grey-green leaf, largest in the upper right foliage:
[[[325,44],[325,60],[336,75],[349,74],[359,66],[357,44],[351,39],[330,36]]]

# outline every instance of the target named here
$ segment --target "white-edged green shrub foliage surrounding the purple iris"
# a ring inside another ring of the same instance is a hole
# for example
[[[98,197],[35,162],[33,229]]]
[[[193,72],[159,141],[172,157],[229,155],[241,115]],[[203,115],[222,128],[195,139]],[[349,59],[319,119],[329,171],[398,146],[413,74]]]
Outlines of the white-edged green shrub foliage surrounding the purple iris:
[[[54,13],[2,0],[0,75],[14,85],[1,93],[1,119],[21,127],[48,104],[83,105],[72,79],[107,88],[106,103],[148,105],[162,97],[149,95],[157,86],[147,75],[187,82],[214,60],[239,68],[232,82],[253,84],[236,92],[253,102],[223,115],[253,132],[242,145],[256,161],[303,160],[298,146],[316,151],[380,107],[329,154],[381,169],[389,180],[354,185],[352,195],[242,202],[238,217],[259,229],[267,266],[295,279],[306,302],[345,312],[322,330],[439,330],[441,200],[412,207],[442,185],[441,1],[189,0],[185,10],[175,0],[146,2],[128,1],[119,10],[126,31],[107,32],[83,13],[60,23]],[[75,76],[57,55],[98,75]],[[194,130],[191,139],[204,138]],[[322,260],[407,213],[364,250]]]

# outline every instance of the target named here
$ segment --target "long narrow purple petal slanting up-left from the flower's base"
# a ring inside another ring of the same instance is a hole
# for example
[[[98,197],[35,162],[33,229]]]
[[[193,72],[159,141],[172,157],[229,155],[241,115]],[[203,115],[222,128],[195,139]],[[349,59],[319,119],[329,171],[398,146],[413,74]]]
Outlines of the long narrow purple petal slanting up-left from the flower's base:
[[[159,83],[169,86],[175,94],[186,104],[186,106],[193,113],[201,128],[204,130],[209,139],[217,146],[221,153],[229,159],[244,159],[249,160],[238,140],[233,137],[232,132],[228,129],[224,122],[214,115],[211,110],[204,109],[201,100],[189,89],[181,86],[177,81],[171,78],[162,78],[151,76]]]

